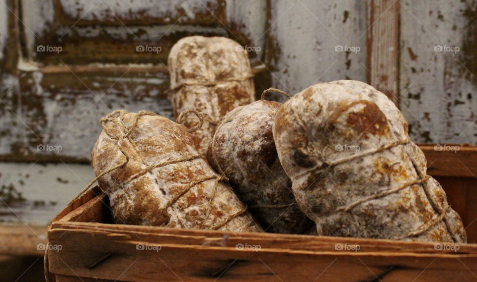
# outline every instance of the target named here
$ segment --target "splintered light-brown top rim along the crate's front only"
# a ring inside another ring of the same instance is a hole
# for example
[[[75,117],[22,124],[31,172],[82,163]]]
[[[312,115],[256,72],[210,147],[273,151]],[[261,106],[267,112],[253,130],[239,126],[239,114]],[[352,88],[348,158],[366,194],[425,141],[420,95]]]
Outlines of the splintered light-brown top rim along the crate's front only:
[[[454,255],[454,250],[436,248],[434,243],[404,242],[396,240],[377,240],[367,238],[344,238],[311,235],[289,235],[274,233],[234,233],[217,232],[210,234],[208,230],[187,230],[173,228],[152,228],[149,232],[137,231],[136,226],[85,223],[83,225],[63,224],[65,228],[54,228],[49,233],[51,242],[60,241],[65,233],[89,234],[94,232],[107,239],[119,241],[143,241],[151,244],[182,244],[197,246],[221,246],[235,248],[238,244],[260,245],[261,249],[303,251],[303,252],[334,252],[342,251],[337,245],[359,245],[360,252],[403,252],[403,253],[433,253],[436,255]],[[477,245],[461,244],[459,254],[477,253]]]

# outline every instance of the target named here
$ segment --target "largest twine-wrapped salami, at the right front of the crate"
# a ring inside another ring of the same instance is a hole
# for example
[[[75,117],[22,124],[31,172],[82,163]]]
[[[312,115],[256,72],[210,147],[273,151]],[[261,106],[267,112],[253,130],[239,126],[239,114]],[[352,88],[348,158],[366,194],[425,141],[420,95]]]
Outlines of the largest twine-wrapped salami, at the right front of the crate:
[[[467,241],[444,190],[426,174],[404,117],[373,87],[352,80],[315,84],[283,104],[273,136],[318,234]]]

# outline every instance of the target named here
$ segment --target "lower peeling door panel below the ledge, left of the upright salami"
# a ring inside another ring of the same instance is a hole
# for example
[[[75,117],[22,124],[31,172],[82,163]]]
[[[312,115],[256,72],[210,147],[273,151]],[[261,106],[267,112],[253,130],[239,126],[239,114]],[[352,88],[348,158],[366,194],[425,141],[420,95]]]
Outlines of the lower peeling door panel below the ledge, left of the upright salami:
[[[2,160],[88,162],[99,119],[107,113],[149,110],[172,118],[163,72],[30,72],[19,85],[19,92],[3,99],[19,117],[3,111],[9,118],[2,118],[2,128],[16,136],[3,135]]]

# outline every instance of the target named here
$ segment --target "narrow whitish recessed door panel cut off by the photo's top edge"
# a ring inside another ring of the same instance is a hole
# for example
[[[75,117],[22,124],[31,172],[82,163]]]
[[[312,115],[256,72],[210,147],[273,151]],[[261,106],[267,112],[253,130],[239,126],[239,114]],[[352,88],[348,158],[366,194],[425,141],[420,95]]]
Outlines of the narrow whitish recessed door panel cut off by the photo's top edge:
[[[148,25],[177,22],[217,25],[226,21],[225,0],[53,1],[56,18],[66,24]]]

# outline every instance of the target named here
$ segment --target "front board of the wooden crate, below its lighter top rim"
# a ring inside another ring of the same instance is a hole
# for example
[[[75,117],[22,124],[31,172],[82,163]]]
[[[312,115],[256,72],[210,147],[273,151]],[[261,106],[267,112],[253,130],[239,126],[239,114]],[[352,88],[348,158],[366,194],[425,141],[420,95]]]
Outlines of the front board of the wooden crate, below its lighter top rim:
[[[138,250],[141,241],[109,240],[94,232],[67,232],[63,248],[49,251],[50,271],[61,275],[115,280],[124,270],[122,281],[214,281],[227,269],[222,279],[234,281],[270,281],[277,275],[284,281],[313,281],[328,267],[326,281],[368,281],[369,270],[379,274],[389,268],[403,271],[400,279],[412,281],[414,271],[422,279],[446,281],[453,277],[467,281],[477,271],[477,254],[409,254],[401,252],[317,252],[237,250],[212,246],[161,244],[159,250]],[[146,242],[143,242],[146,243]],[[87,248],[85,248],[87,246]],[[159,245],[150,245],[159,246]],[[93,265],[111,253],[107,259]],[[465,265],[464,265],[465,264]],[[467,269],[467,267],[469,269]],[[307,271],[303,271],[307,270]]]

